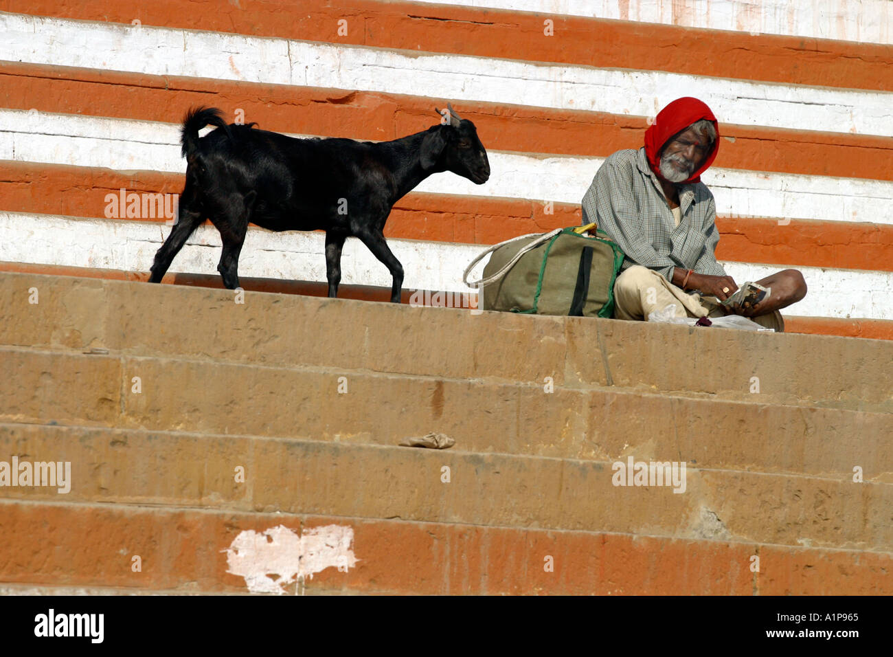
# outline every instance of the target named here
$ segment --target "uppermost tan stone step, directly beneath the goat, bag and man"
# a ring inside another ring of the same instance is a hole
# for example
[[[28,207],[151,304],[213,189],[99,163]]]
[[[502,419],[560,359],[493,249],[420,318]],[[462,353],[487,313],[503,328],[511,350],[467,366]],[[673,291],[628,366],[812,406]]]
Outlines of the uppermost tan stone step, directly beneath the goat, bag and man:
[[[891,341],[263,292],[236,300],[233,291],[4,273],[0,343],[893,411]]]

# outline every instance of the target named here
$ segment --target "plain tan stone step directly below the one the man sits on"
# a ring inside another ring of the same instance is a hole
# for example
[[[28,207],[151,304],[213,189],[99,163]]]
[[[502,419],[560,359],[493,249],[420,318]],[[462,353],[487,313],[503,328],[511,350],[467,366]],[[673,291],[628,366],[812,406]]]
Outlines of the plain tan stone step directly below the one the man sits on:
[[[438,431],[469,452],[893,483],[884,413],[10,347],[0,369],[0,422],[391,446]]]

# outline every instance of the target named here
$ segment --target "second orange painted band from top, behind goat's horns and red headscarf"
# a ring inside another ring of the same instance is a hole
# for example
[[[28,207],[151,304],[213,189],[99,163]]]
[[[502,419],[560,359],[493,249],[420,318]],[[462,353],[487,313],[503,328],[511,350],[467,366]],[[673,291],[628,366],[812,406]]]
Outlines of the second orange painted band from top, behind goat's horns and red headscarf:
[[[179,123],[192,105],[245,112],[264,130],[396,139],[437,121],[433,107],[449,98],[344,89],[289,87],[138,73],[0,63],[0,106]],[[454,102],[492,150],[605,157],[644,143],[645,117],[519,105]],[[893,140],[870,135],[721,123],[714,163],[757,172],[893,180]],[[595,174],[595,172],[593,172]],[[580,191],[580,198],[583,192]]]

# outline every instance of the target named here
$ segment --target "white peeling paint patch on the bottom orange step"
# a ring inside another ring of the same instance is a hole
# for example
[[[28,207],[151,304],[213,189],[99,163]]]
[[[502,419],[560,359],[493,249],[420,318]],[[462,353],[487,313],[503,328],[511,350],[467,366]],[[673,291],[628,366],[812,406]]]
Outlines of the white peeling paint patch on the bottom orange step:
[[[327,568],[347,570],[356,566],[351,549],[354,528],[327,525],[306,529],[298,535],[287,526],[264,532],[240,532],[227,550],[227,572],[245,577],[253,594],[284,594],[286,586],[313,579]]]

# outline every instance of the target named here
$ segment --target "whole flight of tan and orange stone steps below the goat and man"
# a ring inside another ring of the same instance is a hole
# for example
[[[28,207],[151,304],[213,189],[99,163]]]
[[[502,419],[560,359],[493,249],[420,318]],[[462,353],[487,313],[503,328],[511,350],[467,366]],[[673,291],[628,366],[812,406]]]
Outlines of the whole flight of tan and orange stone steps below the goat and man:
[[[891,341],[0,273],[0,361],[0,592],[893,593]]]

